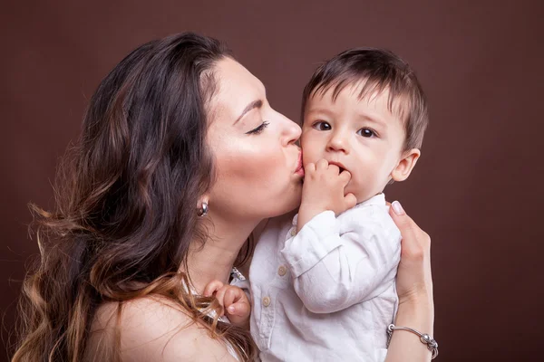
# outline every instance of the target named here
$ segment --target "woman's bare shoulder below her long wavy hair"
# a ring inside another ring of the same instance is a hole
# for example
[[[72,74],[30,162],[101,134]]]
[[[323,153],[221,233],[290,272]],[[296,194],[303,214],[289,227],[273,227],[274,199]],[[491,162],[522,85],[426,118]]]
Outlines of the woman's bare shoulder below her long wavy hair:
[[[121,357],[130,361],[234,361],[225,343],[211,338],[209,330],[193,322],[171,300],[146,297],[125,302],[118,321],[117,303],[97,310],[89,351],[113,346],[115,325],[121,331]]]

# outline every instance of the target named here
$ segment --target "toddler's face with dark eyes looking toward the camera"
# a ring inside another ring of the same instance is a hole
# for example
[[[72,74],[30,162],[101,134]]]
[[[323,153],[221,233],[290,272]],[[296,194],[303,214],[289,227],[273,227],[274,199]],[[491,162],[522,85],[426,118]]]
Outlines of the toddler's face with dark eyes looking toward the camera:
[[[387,108],[388,91],[359,100],[361,86],[346,86],[336,100],[334,87],[310,97],[301,138],[304,165],[325,158],[349,171],[345,193],[357,202],[384,190],[402,163],[405,137],[402,120]]]

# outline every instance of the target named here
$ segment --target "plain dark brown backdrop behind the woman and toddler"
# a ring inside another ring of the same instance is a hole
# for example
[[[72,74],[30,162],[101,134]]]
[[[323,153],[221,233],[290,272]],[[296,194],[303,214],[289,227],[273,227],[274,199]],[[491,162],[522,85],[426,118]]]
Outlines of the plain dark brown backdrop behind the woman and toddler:
[[[5,338],[24,261],[37,252],[26,203],[52,205],[57,157],[77,138],[92,91],[137,45],[194,30],[227,41],[291,119],[316,63],[336,52],[373,45],[411,62],[431,102],[431,126],[413,176],[388,198],[432,235],[438,360],[540,358],[542,1],[149,3],[2,5]]]

